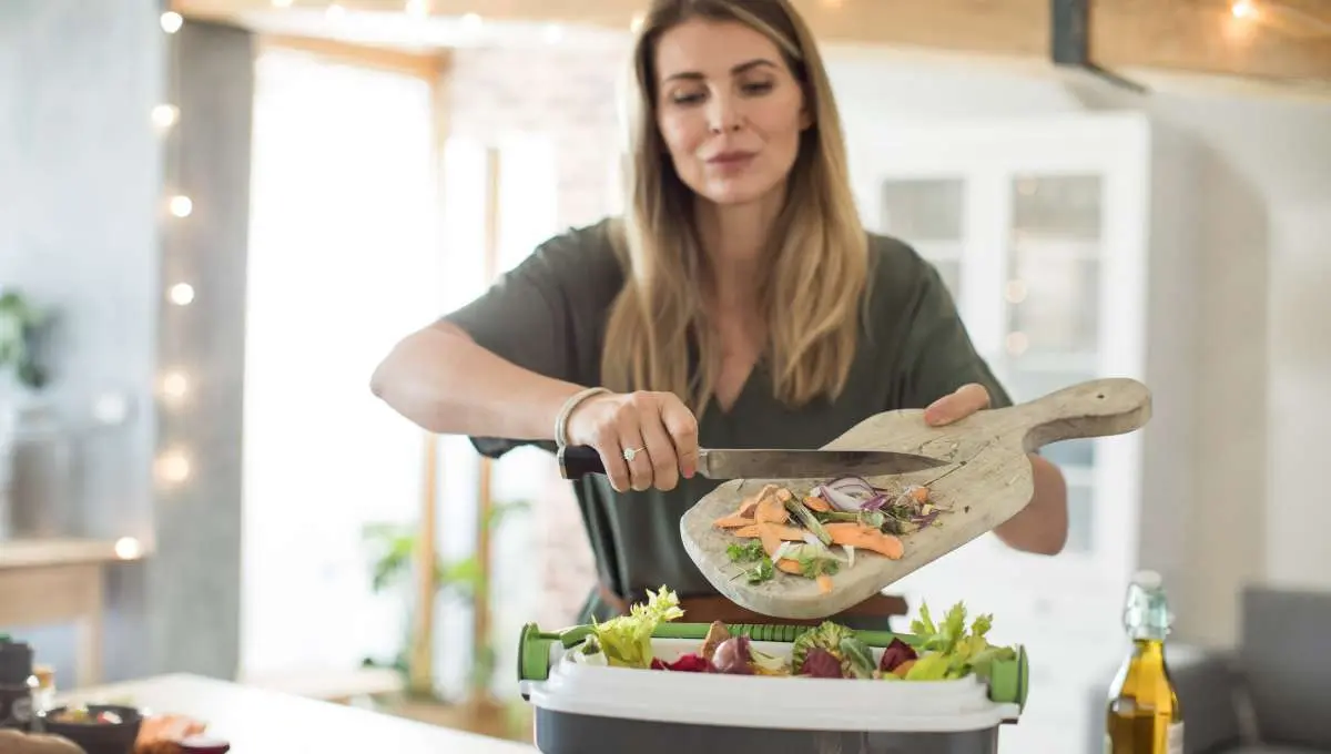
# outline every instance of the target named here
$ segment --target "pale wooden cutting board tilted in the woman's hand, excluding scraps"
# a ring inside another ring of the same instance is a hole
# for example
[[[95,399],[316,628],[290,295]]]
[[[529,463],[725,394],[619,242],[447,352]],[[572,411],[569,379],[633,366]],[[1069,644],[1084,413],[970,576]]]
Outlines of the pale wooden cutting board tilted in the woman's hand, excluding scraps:
[[[853,566],[843,566],[832,576],[829,593],[823,593],[812,578],[781,572],[769,581],[748,584],[743,573],[752,564],[732,563],[727,548],[753,540],[713,525],[733,515],[764,484],[803,495],[829,479],[729,480],[684,513],[680,535],[703,574],[735,604],[781,618],[824,618],[872,597],[1025,508],[1033,495],[1026,453],[1059,440],[1131,432],[1150,415],[1146,386],[1131,379],[1101,379],[1029,403],[981,411],[945,427],[926,426],[922,410],[888,411],[865,419],[825,448],[905,451],[954,463],[868,477],[874,487],[926,485],[930,503],[944,512],[932,527],[900,537],[904,552],[898,560],[857,548]]]

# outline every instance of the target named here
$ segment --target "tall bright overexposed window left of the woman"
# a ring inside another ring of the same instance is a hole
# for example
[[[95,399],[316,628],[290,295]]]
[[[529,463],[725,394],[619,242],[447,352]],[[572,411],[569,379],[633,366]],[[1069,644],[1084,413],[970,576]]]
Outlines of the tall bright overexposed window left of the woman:
[[[441,311],[430,81],[290,49],[257,63],[245,366],[245,674],[402,646],[361,528],[410,521],[423,434],[369,391]]]

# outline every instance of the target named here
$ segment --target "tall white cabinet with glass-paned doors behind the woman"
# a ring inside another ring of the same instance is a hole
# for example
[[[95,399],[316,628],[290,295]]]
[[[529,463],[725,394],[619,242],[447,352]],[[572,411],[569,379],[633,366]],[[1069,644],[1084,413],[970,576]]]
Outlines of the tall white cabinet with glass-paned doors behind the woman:
[[[862,132],[861,132],[862,133]],[[1133,570],[1177,573],[1190,504],[1193,213],[1186,142],[1133,113],[892,128],[849,145],[870,230],[942,274],[1017,402],[1102,376],[1153,391],[1146,430],[1046,445],[1067,479],[1057,557],[981,537],[893,585],[914,609],[965,600],[1029,646],[1013,751],[1079,751],[1085,699],[1122,650]],[[1008,745],[1005,743],[1005,750]]]

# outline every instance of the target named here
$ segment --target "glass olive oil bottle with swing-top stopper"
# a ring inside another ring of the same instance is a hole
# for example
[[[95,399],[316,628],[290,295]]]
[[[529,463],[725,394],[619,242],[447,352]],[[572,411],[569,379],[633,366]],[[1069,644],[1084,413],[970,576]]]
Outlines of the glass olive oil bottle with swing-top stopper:
[[[1165,664],[1170,622],[1159,574],[1137,573],[1123,605],[1133,648],[1110,688],[1105,754],[1183,754],[1183,715]]]

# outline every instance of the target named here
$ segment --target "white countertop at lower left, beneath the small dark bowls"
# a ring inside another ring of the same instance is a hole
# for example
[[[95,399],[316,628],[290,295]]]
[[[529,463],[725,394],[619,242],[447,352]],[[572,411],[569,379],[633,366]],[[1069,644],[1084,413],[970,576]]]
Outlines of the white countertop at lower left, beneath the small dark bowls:
[[[157,676],[142,681],[77,689],[60,703],[133,699],[154,713],[177,713],[208,723],[236,754],[366,751],[393,754],[535,754],[530,745],[487,738],[363,709],[216,681],[200,676]]]

